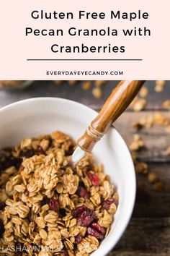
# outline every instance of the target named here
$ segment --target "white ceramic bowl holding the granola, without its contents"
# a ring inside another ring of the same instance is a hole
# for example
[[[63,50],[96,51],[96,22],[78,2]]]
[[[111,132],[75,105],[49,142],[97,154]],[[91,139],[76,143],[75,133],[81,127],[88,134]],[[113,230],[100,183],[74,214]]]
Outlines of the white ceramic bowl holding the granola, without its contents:
[[[32,98],[0,109],[1,148],[15,145],[22,138],[48,134],[54,130],[66,132],[77,140],[97,112],[80,103],[62,98]],[[109,235],[93,256],[104,256],[115,247],[128,225],[135,201],[135,170],[129,150],[116,129],[94,148],[94,156],[104,164],[120,196],[115,220]]]

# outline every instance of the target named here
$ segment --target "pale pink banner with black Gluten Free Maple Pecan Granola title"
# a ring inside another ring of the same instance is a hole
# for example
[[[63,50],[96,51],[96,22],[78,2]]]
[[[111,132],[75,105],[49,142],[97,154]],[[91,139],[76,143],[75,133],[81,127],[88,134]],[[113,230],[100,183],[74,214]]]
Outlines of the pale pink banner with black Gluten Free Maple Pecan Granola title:
[[[164,1],[1,1],[1,80],[169,80]]]

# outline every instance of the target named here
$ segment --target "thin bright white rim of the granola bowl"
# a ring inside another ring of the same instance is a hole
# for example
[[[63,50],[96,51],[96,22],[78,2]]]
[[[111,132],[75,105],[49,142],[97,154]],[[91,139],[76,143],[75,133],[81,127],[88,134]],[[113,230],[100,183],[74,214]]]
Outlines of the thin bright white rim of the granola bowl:
[[[95,115],[98,114],[97,111],[95,111],[94,109],[90,108],[89,106],[86,106],[84,105],[83,103],[79,103],[77,101],[71,101],[71,100],[68,100],[66,98],[55,98],[55,97],[36,97],[36,98],[27,98],[27,99],[24,99],[24,100],[21,100],[21,101],[16,101],[14,103],[9,103],[8,105],[6,106],[2,106],[0,108],[0,115],[1,113],[3,113],[4,111],[9,111],[10,108],[13,108],[15,106],[19,106],[19,105],[22,105],[23,103],[31,103],[31,102],[35,102],[35,101],[61,101],[63,103],[71,103],[73,104],[74,106],[79,106],[80,108],[84,108],[84,110],[86,111],[89,111]],[[104,248],[104,252],[102,252],[102,255],[100,254],[100,256],[104,256],[104,255],[107,255],[107,253],[109,253],[113,247],[115,247],[115,244],[117,244],[117,242],[120,240],[121,236],[124,234],[127,226],[128,226],[128,223],[130,222],[130,218],[132,216],[132,213],[133,213],[133,209],[134,209],[134,205],[135,205],[135,195],[136,195],[136,177],[135,177],[135,167],[134,167],[134,164],[133,164],[133,159],[131,157],[131,154],[130,154],[130,150],[128,149],[128,145],[126,144],[125,140],[122,138],[122,136],[120,135],[120,132],[117,131],[117,129],[115,129],[115,127],[112,125],[111,126],[111,129],[114,129],[115,130],[115,133],[116,133],[116,136],[118,137],[119,140],[121,140],[122,142],[122,145],[124,145],[125,147],[125,151],[126,151],[126,155],[127,155],[127,158],[130,162],[130,178],[131,178],[131,181],[133,182],[133,187],[131,187],[131,195],[133,195],[133,198],[131,197],[130,198],[130,207],[128,208],[128,214],[126,213],[126,218],[123,219],[123,225],[120,226],[120,229],[119,231],[117,232],[118,234],[116,234],[115,236],[115,240],[113,243],[109,243],[107,244],[107,247]],[[97,252],[99,252],[100,250],[100,247],[97,249]],[[95,251],[94,251],[95,252]],[[93,255],[93,253],[91,253],[91,255]]]

